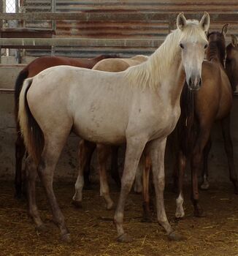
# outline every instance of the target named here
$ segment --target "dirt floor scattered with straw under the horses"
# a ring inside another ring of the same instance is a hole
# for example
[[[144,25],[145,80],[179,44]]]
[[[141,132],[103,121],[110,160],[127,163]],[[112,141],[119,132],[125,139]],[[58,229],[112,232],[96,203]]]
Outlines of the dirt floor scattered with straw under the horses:
[[[193,217],[189,189],[185,191],[185,214],[183,220],[174,219],[174,194],[171,188],[165,192],[166,213],[175,230],[187,240],[168,241],[164,230],[156,222],[142,223],[142,198],[133,192],[128,197],[124,227],[134,241],[120,244],[112,223],[113,211],[107,211],[99,188],[85,191],[83,208],[71,204],[73,184],[56,184],[55,194],[66,223],[72,234],[72,243],[59,240],[58,228],[50,221],[51,214],[45,193],[37,187],[37,200],[42,219],[49,227],[48,233],[37,233],[28,218],[26,202],[13,197],[12,184],[1,183],[0,194],[0,255],[238,255],[238,195],[231,184],[214,187],[201,192],[201,204],[207,217]],[[112,198],[118,192],[112,189]]]

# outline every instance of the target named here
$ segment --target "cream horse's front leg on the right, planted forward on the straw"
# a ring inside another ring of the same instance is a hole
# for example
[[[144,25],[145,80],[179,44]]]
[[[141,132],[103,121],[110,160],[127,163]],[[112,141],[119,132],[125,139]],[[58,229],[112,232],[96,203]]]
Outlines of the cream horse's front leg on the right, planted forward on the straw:
[[[153,183],[156,190],[156,208],[157,219],[162,227],[166,230],[170,240],[182,240],[183,236],[175,233],[166,217],[164,209],[164,151],[166,146],[166,138],[163,140],[153,140],[148,144],[148,151],[152,161]]]

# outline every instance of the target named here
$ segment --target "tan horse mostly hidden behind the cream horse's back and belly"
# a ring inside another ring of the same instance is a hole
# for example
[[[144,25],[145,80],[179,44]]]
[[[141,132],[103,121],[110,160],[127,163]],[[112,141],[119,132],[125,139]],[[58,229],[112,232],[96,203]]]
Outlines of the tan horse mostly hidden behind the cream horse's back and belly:
[[[120,72],[128,69],[128,67],[132,67],[138,64],[141,64],[144,61],[147,61],[148,57],[143,55],[137,55],[130,59],[103,59],[99,61],[93,69],[107,71],[107,72]],[[89,163],[91,161],[91,156],[95,148],[98,151],[98,169],[99,169],[99,178],[100,178],[100,195],[104,197],[104,200],[107,203],[107,209],[111,209],[113,206],[113,201],[110,197],[110,189],[107,183],[107,171],[106,171],[106,163],[108,156],[110,155],[110,151],[112,151],[112,159],[114,159],[112,178],[115,181],[118,181],[118,185],[120,185],[120,176],[118,173],[118,146],[106,146],[103,144],[96,145],[87,140],[80,140],[79,147],[79,174],[77,176],[77,181],[75,183],[75,194],[73,197],[74,206],[81,207],[82,205],[82,187],[84,185],[84,180],[89,181],[88,175],[89,172]],[[116,162],[115,162],[116,161]]]

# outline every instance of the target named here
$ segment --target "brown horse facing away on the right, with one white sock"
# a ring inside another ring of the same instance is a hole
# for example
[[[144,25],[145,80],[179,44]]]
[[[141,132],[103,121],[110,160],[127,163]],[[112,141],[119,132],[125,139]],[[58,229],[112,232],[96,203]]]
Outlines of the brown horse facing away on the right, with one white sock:
[[[204,211],[199,206],[199,189],[197,175],[202,165],[202,157],[207,162],[210,131],[215,121],[220,121],[223,130],[226,154],[229,161],[229,172],[235,191],[238,192],[237,173],[234,169],[233,146],[230,135],[230,111],[232,91],[229,78],[223,67],[225,58],[225,35],[227,26],[222,32],[208,34],[207,61],[202,64],[201,90],[191,92],[183,88],[181,97],[181,116],[177,124],[180,151],[178,153],[178,196],[175,216],[183,217],[183,176],[187,157],[191,157],[192,195],[194,215],[203,217]],[[207,147],[207,148],[206,148]],[[204,152],[205,151],[205,152]]]

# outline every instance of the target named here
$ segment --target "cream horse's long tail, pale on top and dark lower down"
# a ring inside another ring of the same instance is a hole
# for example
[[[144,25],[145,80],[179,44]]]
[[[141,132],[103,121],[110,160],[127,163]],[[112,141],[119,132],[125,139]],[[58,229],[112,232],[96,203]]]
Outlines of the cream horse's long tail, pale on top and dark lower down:
[[[40,129],[39,124],[37,124],[34,116],[32,116],[26,99],[26,94],[31,87],[32,81],[33,78],[26,79],[20,91],[18,120],[20,123],[20,132],[23,135],[28,154],[31,155],[34,161],[38,164],[42,155],[45,140],[42,129]]]

